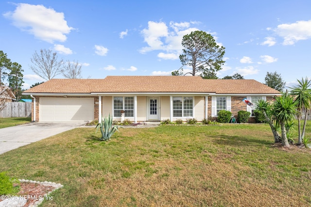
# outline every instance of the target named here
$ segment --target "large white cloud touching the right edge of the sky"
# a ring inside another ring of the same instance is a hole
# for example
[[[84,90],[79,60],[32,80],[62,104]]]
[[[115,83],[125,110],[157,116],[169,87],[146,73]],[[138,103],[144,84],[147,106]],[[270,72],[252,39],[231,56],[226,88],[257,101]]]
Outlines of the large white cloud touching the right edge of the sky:
[[[292,24],[280,24],[275,29],[275,32],[284,38],[283,45],[294,45],[299,40],[311,38],[311,20],[297,21]]]

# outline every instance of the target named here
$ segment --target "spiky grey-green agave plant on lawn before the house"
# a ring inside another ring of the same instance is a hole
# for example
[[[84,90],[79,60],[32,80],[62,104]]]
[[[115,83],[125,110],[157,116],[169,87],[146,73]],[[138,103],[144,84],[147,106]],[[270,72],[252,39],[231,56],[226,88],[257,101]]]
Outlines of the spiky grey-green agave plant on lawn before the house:
[[[110,140],[110,137],[118,130],[118,126],[112,126],[112,116],[104,117],[104,120],[102,122],[99,122],[95,127],[96,133],[98,129],[101,130],[102,138],[100,138],[101,141],[108,141]]]

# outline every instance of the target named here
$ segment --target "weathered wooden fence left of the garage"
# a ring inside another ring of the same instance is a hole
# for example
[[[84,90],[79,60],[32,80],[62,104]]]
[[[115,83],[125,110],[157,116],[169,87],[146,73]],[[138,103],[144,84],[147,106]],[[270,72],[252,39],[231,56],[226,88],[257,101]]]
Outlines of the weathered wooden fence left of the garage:
[[[8,102],[0,111],[0,118],[31,116],[31,102]]]

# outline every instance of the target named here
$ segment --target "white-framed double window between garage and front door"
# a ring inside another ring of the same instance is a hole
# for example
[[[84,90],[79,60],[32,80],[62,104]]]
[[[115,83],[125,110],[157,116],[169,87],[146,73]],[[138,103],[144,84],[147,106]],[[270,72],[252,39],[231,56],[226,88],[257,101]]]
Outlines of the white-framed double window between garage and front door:
[[[134,97],[114,97],[114,117],[121,116],[121,110],[125,111],[125,117],[134,117]]]

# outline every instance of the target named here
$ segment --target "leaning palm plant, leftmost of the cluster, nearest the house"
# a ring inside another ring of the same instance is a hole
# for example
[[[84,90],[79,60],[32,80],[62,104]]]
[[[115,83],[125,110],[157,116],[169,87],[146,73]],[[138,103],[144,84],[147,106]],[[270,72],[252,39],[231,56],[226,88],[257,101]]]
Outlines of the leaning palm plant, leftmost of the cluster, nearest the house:
[[[259,99],[256,104],[256,111],[261,111],[263,113],[273,133],[274,142],[280,143],[282,141],[281,136],[277,132],[276,127],[274,126],[273,121],[271,120],[271,117],[272,117],[271,104],[267,102],[266,100]]]

